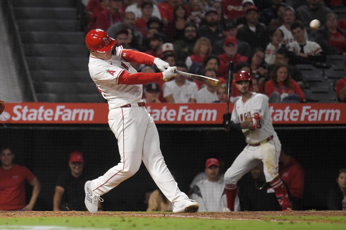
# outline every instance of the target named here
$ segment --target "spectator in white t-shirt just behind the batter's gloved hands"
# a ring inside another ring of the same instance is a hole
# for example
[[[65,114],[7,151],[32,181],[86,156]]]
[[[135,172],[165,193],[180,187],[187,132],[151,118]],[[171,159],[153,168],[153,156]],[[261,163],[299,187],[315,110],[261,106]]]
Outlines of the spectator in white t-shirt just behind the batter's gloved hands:
[[[176,68],[179,71],[188,71],[184,63],[177,63]],[[174,81],[163,84],[163,97],[169,103],[195,103],[197,92],[197,84],[186,80],[186,77],[180,74],[175,76]]]

